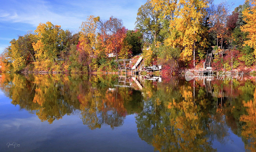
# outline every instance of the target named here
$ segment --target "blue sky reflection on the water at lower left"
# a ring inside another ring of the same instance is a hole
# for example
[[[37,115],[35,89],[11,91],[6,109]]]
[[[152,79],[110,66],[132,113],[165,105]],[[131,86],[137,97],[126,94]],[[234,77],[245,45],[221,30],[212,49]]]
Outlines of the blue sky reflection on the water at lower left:
[[[0,151],[154,150],[138,136],[134,115],[127,115],[124,124],[114,130],[108,125],[91,130],[83,125],[78,112],[65,115],[49,125],[47,121],[41,122],[35,114],[20,110],[18,105],[0,105],[0,109]],[[14,141],[20,147],[7,148],[6,143]]]

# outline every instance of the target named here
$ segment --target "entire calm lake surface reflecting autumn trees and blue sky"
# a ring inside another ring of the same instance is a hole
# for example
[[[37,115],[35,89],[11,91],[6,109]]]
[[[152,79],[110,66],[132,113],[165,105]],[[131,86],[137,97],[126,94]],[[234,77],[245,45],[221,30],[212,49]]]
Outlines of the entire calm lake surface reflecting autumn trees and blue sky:
[[[0,151],[255,151],[255,99],[252,77],[0,73]]]

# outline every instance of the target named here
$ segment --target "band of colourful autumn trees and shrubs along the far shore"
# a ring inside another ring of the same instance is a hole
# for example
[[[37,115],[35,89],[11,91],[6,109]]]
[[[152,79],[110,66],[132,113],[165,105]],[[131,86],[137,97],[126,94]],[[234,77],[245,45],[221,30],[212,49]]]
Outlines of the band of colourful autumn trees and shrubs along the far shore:
[[[78,33],[40,23],[10,41],[0,56],[1,70],[114,72],[114,60],[141,54],[146,66],[161,64],[173,73],[202,68],[207,52],[224,49],[225,54],[215,55],[213,70],[250,70],[256,61],[255,4],[246,0],[232,11],[227,2],[148,0],[138,9],[134,30],[113,16],[88,16]]]

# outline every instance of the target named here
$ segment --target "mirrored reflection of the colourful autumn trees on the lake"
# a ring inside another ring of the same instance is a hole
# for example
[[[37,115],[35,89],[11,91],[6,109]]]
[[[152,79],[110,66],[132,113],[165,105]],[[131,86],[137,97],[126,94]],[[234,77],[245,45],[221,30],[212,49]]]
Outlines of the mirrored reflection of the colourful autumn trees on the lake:
[[[255,150],[255,79],[215,79],[207,89],[204,80],[136,78],[125,79],[132,88],[120,87],[116,75],[2,73],[0,87],[13,105],[49,124],[79,110],[90,129],[114,129],[134,114],[139,137],[158,151],[215,151],[214,140],[232,142],[229,130]]]

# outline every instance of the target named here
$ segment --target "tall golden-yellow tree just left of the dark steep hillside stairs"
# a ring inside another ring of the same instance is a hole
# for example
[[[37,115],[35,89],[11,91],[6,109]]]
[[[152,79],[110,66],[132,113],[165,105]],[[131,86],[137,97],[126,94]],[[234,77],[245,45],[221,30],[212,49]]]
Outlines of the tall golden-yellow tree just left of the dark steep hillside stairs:
[[[169,18],[169,37],[166,43],[172,47],[180,47],[183,60],[190,60],[193,54],[195,66],[196,41],[202,33],[202,20],[209,1],[165,1],[152,0],[154,10],[163,10],[163,16]]]

